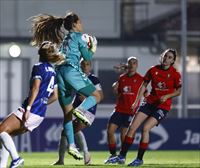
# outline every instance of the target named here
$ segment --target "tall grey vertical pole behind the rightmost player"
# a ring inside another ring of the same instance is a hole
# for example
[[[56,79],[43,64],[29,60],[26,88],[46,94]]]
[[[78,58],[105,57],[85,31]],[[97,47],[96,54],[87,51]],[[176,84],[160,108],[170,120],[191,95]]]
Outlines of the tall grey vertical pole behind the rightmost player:
[[[187,0],[180,0],[181,2],[181,56],[182,56],[182,112],[183,117],[188,117],[187,109]]]

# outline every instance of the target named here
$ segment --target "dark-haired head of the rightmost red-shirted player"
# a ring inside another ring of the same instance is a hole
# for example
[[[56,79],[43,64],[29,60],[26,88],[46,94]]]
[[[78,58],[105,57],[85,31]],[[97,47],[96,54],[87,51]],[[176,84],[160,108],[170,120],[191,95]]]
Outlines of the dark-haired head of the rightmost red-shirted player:
[[[170,66],[176,61],[177,51],[175,49],[169,48],[165,50],[160,56],[160,63],[162,65]]]

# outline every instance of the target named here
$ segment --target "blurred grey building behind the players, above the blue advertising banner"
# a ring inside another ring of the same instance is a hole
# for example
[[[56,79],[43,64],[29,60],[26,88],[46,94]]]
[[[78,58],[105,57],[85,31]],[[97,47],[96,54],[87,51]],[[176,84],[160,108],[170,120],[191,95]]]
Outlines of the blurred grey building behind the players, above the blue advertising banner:
[[[115,97],[112,83],[120,75],[113,66],[129,56],[139,59],[138,72],[159,63],[166,48],[176,48],[177,69],[182,71],[181,23],[187,23],[187,114],[182,113],[181,97],[174,101],[170,117],[200,118],[200,1],[187,0],[186,20],[181,20],[181,0],[0,0],[0,117],[18,107],[26,96],[37,49],[31,47],[31,23],[27,19],[39,13],[64,16],[74,11],[81,16],[86,33],[98,39],[93,72],[99,76],[105,98],[98,116],[108,117]],[[19,46],[19,57],[9,49]],[[59,117],[58,104],[50,106],[48,115]],[[62,113],[60,112],[60,116]]]

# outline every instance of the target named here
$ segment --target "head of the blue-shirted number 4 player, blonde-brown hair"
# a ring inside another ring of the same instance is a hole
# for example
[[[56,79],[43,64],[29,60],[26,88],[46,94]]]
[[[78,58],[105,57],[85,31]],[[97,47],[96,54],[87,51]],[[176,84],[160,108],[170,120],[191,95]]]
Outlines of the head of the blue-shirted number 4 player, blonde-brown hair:
[[[41,44],[38,54],[40,62],[55,63],[61,59],[56,45],[50,41],[44,41]]]

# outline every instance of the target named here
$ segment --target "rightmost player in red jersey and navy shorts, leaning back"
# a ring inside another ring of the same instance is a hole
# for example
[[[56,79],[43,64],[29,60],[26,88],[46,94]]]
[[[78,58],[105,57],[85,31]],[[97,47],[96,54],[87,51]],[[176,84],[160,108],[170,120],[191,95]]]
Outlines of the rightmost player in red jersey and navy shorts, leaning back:
[[[172,98],[181,94],[181,75],[173,67],[176,56],[176,50],[165,50],[160,57],[161,64],[153,66],[147,71],[143,85],[132,105],[132,109],[134,110],[136,108],[139,99],[150,82],[152,88],[151,92],[147,96],[146,102],[142,103],[138,113],[131,122],[120,154],[112,159],[112,163],[125,162],[126,154],[132,145],[136,130],[144,122],[137,158],[133,160],[129,166],[140,166],[143,164],[143,155],[149,144],[150,130],[167,116],[171,108]]]

